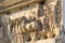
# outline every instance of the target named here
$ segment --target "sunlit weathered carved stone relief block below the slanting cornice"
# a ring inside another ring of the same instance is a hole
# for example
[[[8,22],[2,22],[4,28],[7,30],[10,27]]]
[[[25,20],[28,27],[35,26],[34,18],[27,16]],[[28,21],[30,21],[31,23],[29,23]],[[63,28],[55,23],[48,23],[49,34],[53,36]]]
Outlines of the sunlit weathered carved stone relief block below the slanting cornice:
[[[57,0],[48,1],[44,4],[41,2],[13,9],[9,14],[3,13],[5,15],[2,14],[1,22],[5,30],[3,32],[4,39],[8,39],[6,41],[10,39],[13,43],[56,43],[56,39],[60,41],[61,4]],[[57,10],[54,10],[55,5],[58,8]],[[57,11],[56,18],[54,17],[55,11]]]

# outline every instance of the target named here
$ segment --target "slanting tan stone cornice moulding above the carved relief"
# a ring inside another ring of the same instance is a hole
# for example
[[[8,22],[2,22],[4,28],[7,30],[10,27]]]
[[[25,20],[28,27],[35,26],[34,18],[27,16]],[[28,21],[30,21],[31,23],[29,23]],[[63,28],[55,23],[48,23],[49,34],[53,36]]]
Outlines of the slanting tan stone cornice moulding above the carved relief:
[[[11,9],[15,9],[15,8],[23,8],[23,6],[29,5],[31,3],[37,3],[37,2],[40,2],[40,1],[41,0],[18,1],[18,2],[12,3],[12,4],[8,4],[8,5],[3,6],[2,9],[0,8],[0,13],[10,11]]]

